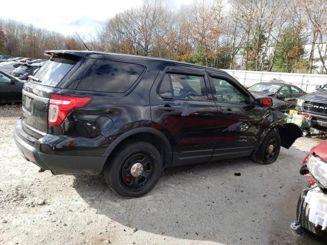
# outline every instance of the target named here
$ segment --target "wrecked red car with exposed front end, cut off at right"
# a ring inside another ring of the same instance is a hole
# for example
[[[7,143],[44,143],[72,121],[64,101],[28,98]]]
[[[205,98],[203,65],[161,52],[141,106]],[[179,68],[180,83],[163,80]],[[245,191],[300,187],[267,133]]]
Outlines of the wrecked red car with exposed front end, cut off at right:
[[[299,197],[293,233],[304,231],[327,241],[327,140],[314,146],[303,160],[301,175],[308,176],[310,184]]]

